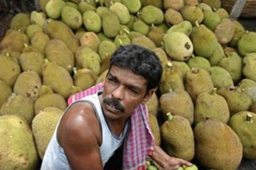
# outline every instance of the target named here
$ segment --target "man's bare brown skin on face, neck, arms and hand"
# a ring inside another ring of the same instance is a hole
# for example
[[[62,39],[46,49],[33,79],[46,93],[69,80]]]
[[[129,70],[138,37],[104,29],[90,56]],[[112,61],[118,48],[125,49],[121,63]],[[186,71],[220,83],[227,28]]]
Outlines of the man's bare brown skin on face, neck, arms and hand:
[[[154,90],[147,92],[147,80],[130,69],[115,65],[111,67],[99,99],[105,119],[117,136],[123,131],[132,111],[139,104],[145,104]],[[116,104],[124,109],[118,109]],[[100,157],[101,128],[90,104],[76,103],[67,110],[60,120],[57,139],[72,170],[103,169]],[[164,170],[174,170],[179,165],[192,165],[185,160],[170,157],[157,146],[152,158]]]

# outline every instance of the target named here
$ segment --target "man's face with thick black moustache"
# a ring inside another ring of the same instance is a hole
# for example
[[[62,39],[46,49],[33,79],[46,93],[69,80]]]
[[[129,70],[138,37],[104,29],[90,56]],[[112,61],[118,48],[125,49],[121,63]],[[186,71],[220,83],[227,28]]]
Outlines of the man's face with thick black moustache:
[[[140,103],[146,103],[153,90],[146,94],[147,80],[130,69],[112,66],[102,93],[101,103],[109,119],[126,120]]]

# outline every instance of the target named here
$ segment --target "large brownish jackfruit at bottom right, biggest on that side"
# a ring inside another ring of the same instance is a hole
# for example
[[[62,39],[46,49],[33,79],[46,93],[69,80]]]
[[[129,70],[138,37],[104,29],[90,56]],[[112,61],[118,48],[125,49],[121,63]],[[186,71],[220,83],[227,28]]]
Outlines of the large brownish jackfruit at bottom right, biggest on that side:
[[[194,128],[196,158],[210,169],[235,170],[241,163],[243,146],[236,133],[217,120],[205,120]]]

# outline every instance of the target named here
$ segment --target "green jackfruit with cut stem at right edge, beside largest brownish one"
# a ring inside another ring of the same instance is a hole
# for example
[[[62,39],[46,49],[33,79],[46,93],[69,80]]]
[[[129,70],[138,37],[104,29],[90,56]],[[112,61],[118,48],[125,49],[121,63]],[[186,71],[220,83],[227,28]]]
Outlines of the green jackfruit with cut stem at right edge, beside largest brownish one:
[[[251,115],[250,120],[248,114]],[[256,113],[238,112],[229,120],[229,126],[236,132],[243,144],[243,157],[256,159]]]

